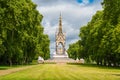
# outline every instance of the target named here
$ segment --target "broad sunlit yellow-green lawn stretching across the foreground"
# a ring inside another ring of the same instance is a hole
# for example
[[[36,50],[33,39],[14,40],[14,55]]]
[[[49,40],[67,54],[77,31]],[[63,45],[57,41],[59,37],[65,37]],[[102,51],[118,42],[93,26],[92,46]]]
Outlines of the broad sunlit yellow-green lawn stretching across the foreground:
[[[39,64],[0,80],[120,80],[120,69],[74,64]]]

